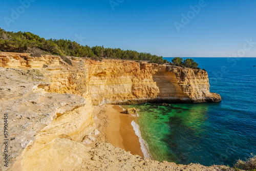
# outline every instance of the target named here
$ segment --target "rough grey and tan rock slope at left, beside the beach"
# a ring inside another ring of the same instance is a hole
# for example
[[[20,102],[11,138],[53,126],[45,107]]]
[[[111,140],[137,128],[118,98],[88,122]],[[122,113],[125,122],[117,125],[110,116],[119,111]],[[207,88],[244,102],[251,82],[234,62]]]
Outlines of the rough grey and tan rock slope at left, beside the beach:
[[[57,60],[61,61],[59,58]],[[50,63],[44,62],[48,66],[44,68],[45,72],[54,73],[65,68],[65,65],[51,66]],[[35,170],[27,169],[33,163],[31,157],[38,158],[42,151],[50,153],[49,143],[56,138],[80,142],[95,130],[92,100],[87,89],[76,93],[80,96],[72,93],[79,88],[75,83],[69,82],[73,86],[67,86],[67,91],[61,89],[65,86],[65,79],[62,78],[62,86],[52,84],[51,79],[42,74],[43,66],[37,65],[37,69],[0,68],[1,113],[8,114],[9,125],[9,168],[15,163],[11,170]],[[15,65],[15,68],[20,66]],[[70,72],[69,81],[76,79],[73,72],[74,70]],[[68,91],[70,94],[67,94]],[[0,120],[0,125],[4,125],[3,119]],[[3,134],[0,139],[5,139]],[[1,143],[0,147],[3,152],[4,144]],[[0,169],[7,168],[1,165]]]

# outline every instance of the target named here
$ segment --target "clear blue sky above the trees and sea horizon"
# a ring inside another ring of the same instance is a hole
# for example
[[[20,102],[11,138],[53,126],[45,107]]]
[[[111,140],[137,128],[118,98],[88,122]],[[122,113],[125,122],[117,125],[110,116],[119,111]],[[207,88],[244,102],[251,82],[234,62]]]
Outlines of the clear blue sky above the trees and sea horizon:
[[[21,2],[0,3],[1,28],[164,57],[256,57],[255,0]],[[182,14],[189,14],[189,23],[182,23]],[[179,32],[175,22],[183,25]]]

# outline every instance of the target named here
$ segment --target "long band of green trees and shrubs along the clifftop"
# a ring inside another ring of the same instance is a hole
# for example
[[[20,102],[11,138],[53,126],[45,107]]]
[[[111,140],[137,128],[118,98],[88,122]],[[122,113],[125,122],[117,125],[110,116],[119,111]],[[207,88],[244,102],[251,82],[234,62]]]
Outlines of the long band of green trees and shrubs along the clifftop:
[[[162,56],[150,53],[139,53],[132,50],[121,50],[120,48],[104,48],[103,46],[82,46],[75,41],[67,39],[45,39],[30,32],[8,32],[0,28],[0,50],[4,52],[28,52],[33,56],[41,54],[52,54],[59,56],[102,57],[145,60],[152,63],[163,64]]]

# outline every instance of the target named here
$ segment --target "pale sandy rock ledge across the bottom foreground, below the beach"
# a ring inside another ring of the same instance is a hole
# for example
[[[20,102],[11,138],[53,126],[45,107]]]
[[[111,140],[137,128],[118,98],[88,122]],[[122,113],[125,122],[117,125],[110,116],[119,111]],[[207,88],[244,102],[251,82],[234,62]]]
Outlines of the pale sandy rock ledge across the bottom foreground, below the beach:
[[[178,165],[166,161],[152,161],[147,158],[131,155],[129,152],[125,152],[123,149],[114,147],[109,143],[98,143],[95,147],[88,147],[67,138],[56,138],[45,145],[40,155],[31,154],[30,158],[24,159],[22,167],[15,163],[10,170],[233,171],[234,169],[227,166],[206,167],[200,164]]]

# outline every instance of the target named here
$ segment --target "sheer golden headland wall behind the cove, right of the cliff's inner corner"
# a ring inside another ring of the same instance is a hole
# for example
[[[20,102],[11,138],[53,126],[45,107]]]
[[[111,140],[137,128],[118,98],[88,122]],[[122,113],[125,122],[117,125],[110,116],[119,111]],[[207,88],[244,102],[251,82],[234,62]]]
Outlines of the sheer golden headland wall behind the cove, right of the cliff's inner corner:
[[[83,62],[89,68],[89,92],[95,105],[221,100],[210,93],[203,70],[122,60]]]

